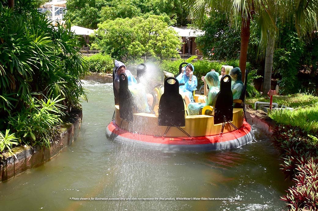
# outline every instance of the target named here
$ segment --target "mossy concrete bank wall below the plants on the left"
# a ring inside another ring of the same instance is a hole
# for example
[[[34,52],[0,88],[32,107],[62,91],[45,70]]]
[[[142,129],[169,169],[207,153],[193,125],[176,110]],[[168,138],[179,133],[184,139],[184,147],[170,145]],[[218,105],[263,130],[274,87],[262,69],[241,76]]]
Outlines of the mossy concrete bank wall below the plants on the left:
[[[41,165],[57,155],[59,151],[71,144],[79,135],[81,121],[82,110],[72,109],[70,118],[63,125],[60,135],[51,143],[50,148],[19,146],[12,149],[15,156],[9,153],[0,155],[0,182]]]

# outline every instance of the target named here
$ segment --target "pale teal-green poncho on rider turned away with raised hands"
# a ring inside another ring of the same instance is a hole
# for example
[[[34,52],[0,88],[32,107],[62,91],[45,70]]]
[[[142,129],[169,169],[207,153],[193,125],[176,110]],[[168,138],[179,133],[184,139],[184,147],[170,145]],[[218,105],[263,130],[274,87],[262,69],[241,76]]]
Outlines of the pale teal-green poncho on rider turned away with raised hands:
[[[209,72],[205,75],[204,80],[206,81],[207,85],[209,86],[209,92],[206,96],[205,103],[195,103],[191,102],[188,105],[188,114],[189,115],[198,115],[200,112],[200,109],[202,109],[206,105],[213,106],[216,100],[216,95],[220,91],[218,84],[219,74],[217,72]]]

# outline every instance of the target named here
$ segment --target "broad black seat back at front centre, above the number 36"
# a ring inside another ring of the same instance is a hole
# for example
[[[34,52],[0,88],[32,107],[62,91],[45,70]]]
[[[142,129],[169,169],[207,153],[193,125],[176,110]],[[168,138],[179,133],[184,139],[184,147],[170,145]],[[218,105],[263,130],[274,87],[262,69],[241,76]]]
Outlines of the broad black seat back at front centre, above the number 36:
[[[175,83],[169,84],[168,80],[174,80]],[[174,77],[169,77],[164,81],[164,93],[159,102],[158,124],[160,126],[185,126],[183,99],[179,94],[179,82]]]

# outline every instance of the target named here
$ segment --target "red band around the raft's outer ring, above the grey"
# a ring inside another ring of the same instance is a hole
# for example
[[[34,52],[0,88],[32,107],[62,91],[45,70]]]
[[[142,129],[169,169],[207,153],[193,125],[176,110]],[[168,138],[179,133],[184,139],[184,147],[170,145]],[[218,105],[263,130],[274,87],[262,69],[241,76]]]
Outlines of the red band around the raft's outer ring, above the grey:
[[[234,130],[232,132],[224,133],[223,136],[213,135],[213,136],[201,136],[201,137],[158,137],[152,135],[134,134],[119,128],[114,121],[108,124],[107,129],[113,135],[120,136],[125,139],[142,141],[152,144],[169,144],[169,145],[196,145],[196,144],[217,144],[225,143],[228,141],[239,140],[244,136],[251,133],[251,125],[247,122],[243,122],[242,127],[239,130]],[[191,134],[190,134],[191,135]],[[252,141],[252,140],[249,140]],[[244,143],[245,144],[245,143]],[[240,146],[237,145],[236,147]]]

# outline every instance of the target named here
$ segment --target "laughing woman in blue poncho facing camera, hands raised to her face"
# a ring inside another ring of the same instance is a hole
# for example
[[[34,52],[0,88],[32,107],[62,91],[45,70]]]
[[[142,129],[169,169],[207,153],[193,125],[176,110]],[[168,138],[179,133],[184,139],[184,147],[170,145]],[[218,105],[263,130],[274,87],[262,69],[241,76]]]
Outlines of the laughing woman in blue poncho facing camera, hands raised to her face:
[[[191,102],[194,102],[192,92],[197,90],[197,77],[193,75],[194,67],[192,64],[187,64],[187,66],[182,68],[181,73],[176,77],[179,83],[184,83],[180,86],[180,89],[189,96]],[[185,72],[185,74],[184,74]]]

